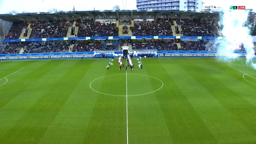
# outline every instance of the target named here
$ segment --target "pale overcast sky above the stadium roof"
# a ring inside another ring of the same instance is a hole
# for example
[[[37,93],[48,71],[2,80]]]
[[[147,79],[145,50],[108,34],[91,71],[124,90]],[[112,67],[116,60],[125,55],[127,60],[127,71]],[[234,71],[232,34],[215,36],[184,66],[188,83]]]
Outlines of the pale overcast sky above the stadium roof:
[[[44,1],[44,2],[43,2]],[[246,6],[253,9],[256,0],[203,0],[206,5],[213,6]],[[72,3],[74,2],[74,3]],[[0,0],[0,14],[16,10],[19,12],[45,12],[48,9],[56,8],[63,11],[71,11],[75,6],[77,11],[112,10],[116,4],[121,9],[136,10],[136,0]],[[256,8],[254,8],[256,9]],[[255,11],[255,10],[254,10]]]

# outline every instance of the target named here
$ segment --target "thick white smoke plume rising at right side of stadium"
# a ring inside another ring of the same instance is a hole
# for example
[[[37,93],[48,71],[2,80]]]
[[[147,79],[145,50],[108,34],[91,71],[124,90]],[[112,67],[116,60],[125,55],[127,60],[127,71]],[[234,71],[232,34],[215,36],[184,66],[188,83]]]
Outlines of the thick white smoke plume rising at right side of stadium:
[[[238,58],[234,51],[244,49],[247,51],[246,64],[252,65],[256,70],[256,63],[253,60],[254,51],[252,36],[250,35],[250,27],[246,27],[248,22],[249,10],[229,10],[224,9],[220,18],[220,24],[223,26],[222,40],[216,40],[212,47],[215,47],[220,52],[228,54],[228,59]],[[243,47],[241,47],[243,45]]]

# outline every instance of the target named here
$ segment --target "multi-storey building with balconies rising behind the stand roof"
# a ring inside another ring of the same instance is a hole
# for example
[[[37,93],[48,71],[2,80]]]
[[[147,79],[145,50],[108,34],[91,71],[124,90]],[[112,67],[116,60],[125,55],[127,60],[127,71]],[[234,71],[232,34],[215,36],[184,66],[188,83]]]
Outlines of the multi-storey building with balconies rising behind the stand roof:
[[[138,10],[202,10],[202,0],[137,0]]]

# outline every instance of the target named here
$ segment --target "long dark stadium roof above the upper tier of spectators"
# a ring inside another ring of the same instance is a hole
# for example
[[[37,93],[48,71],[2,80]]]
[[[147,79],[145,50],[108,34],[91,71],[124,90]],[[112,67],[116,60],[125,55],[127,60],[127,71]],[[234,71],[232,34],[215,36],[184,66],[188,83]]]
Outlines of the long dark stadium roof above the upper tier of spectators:
[[[0,14],[0,19],[6,21],[35,21],[35,20],[58,20],[58,19],[83,19],[84,16],[116,16],[119,18],[121,15],[165,15],[167,17],[177,18],[191,16],[192,18],[216,18],[220,12],[208,12],[208,11],[148,11],[148,10],[121,10],[121,11],[76,11],[76,12],[36,12],[36,13],[20,13],[20,14]]]

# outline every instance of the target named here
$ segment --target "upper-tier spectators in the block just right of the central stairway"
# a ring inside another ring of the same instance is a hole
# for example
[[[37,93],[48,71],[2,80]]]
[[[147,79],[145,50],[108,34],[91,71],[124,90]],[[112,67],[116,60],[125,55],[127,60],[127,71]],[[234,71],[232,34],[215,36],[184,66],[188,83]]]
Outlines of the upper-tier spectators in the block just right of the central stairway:
[[[158,18],[155,21],[135,21],[132,36],[172,36],[173,19]]]

